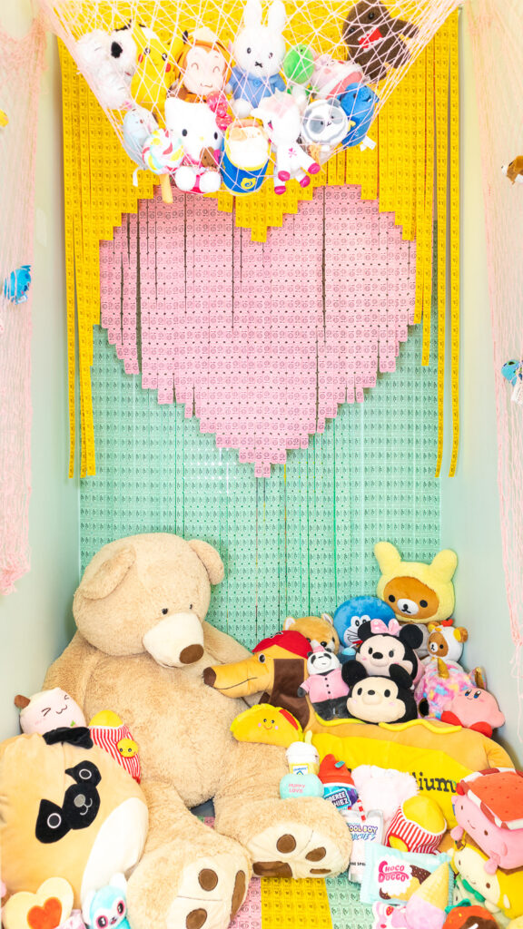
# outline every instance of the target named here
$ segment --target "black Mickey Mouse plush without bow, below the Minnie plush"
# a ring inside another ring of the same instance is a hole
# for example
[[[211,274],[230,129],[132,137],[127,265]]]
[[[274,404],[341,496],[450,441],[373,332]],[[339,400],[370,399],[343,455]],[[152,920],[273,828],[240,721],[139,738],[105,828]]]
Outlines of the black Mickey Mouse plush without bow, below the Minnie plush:
[[[405,668],[391,664],[389,676],[369,676],[359,661],[342,665],[342,676],[350,687],[347,710],[364,723],[408,723],[418,718],[412,679]]]

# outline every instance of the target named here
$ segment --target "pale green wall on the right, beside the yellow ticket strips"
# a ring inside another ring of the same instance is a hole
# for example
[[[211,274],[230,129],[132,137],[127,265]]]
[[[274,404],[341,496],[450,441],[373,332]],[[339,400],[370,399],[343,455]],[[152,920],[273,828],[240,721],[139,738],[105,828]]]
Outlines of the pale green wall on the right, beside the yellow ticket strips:
[[[442,481],[441,532],[460,558],[456,622],[469,630],[467,662],[485,666],[489,688],[507,719],[500,736],[523,764],[517,686],[510,671],[514,646],[502,563],[485,216],[466,6],[462,33],[462,440],[457,475]]]

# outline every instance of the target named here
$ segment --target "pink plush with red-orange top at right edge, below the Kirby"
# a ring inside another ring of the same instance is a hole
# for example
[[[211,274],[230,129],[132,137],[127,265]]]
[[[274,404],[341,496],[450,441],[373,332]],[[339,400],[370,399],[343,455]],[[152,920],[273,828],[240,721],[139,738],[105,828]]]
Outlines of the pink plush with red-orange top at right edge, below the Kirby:
[[[489,856],[488,874],[523,866],[523,771],[491,767],[463,778],[456,791],[452,838],[468,832]]]

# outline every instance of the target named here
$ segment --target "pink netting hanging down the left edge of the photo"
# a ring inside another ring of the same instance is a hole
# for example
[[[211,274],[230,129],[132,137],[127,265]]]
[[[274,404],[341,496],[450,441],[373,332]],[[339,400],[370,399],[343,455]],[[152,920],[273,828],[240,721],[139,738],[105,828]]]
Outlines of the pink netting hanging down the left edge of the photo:
[[[31,288],[12,272],[33,261],[36,110],[45,33],[0,32],[0,592],[29,569]],[[16,300],[21,300],[17,303]]]

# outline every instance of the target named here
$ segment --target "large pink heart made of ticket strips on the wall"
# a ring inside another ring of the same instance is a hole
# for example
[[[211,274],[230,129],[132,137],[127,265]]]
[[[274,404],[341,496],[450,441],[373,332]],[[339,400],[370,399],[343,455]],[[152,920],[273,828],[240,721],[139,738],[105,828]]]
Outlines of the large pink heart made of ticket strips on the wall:
[[[127,373],[264,477],[395,370],[415,246],[356,187],[318,190],[267,243],[233,222],[200,198],[142,201],[101,243],[101,323]]]

